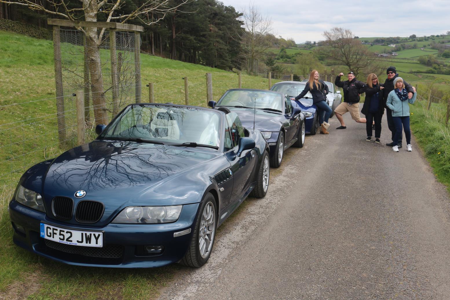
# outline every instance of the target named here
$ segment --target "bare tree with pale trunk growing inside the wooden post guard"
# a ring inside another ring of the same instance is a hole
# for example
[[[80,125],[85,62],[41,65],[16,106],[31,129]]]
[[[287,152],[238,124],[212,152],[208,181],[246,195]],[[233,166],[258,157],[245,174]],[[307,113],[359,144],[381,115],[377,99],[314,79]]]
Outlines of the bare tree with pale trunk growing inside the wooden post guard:
[[[84,18],[84,21],[96,22],[100,14],[106,17],[106,22],[126,22],[130,19],[139,19],[141,22],[151,25],[161,21],[166,14],[174,12],[181,5],[192,0],[179,0],[174,4],[172,0],[144,0],[134,11],[119,14],[117,10],[125,5],[122,0],[80,0],[79,7],[68,7],[68,0],[46,0],[44,4],[37,0],[0,0],[0,3],[27,6],[33,10],[57,15],[75,21]],[[71,2],[72,4],[75,2]],[[50,9],[52,8],[52,9]],[[157,13],[159,18],[145,18],[148,14]],[[100,61],[99,46],[102,44],[106,28],[99,33],[96,27],[77,28],[86,36],[87,60],[90,72],[90,85],[92,87],[92,103],[94,105],[94,118],[96,124],[107,124],[108,114],[106,110],[106,98],[103,90],[102,66]]]

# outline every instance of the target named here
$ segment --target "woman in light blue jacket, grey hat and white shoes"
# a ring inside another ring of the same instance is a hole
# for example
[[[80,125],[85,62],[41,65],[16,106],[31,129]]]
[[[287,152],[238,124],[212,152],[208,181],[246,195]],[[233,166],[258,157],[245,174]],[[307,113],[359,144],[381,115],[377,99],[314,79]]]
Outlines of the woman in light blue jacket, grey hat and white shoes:
[[[406,150],[412,151],[411,130],[410,130],[410,106],[416,101],[416,89],[413,87],[414,95],[408,99],[408,91],[401,77],[394,79],[394,90],[387,95],[386,106],[392,110],[392,121],[394,122],[396,133],[394,135],[394,145],[392,150],[398,152],[398,143],[401,136],[402,125],[405,130]]]

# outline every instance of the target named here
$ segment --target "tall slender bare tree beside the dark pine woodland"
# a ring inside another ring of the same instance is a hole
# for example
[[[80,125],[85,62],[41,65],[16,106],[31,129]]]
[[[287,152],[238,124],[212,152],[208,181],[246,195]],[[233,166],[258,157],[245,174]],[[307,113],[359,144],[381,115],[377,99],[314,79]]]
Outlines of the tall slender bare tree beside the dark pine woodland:
[[[239,35],[244,56],[247,60],[248,70],[255,71],[256,62],[262,59],[267,49],[274,45],[271,35],[272,20],[263,16],[254,4],[248,5],[248,10],[242,16],[244,32]]]

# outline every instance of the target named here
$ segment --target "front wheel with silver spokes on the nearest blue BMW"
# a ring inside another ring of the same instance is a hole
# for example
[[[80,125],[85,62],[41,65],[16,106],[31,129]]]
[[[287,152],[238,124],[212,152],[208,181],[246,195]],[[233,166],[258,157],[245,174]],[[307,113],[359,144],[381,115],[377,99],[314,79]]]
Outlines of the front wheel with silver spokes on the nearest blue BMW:
[[[195,221],[195,230],[189,249],[181,259],[185,266],[199,268],[209,259],[217,228],[216,200],[211,193],[203,198],[200,210]]]

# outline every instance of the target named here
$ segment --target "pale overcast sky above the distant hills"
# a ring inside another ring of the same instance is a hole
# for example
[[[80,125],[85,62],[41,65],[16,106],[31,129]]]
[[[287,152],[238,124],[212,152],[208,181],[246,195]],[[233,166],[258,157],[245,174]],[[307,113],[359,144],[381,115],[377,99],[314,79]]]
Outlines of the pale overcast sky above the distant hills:
[[[449,0],[219,0],[242,12],[254,3],[269,15],[276,36],[296,43],[324,40],[325,30],[350,29],[359,37],[430,36],[450,31]]]

